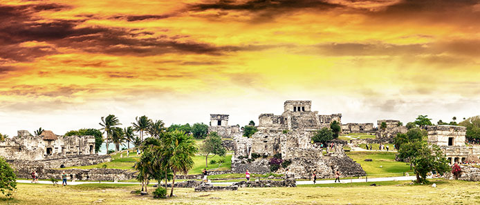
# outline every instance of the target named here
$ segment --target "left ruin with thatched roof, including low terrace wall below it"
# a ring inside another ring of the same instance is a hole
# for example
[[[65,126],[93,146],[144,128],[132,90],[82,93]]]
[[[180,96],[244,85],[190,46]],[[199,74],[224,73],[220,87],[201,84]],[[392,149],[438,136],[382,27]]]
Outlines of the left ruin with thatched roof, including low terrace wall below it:
[[[67,166],[87,166],[110,162],[109,155],[95,153],[93,136],[61,136],[50,130],[33,136],[26,130],[0,141],[0,156],[12,164],[18,176],[29,177],[33,170],[39,174],[46,169]]]

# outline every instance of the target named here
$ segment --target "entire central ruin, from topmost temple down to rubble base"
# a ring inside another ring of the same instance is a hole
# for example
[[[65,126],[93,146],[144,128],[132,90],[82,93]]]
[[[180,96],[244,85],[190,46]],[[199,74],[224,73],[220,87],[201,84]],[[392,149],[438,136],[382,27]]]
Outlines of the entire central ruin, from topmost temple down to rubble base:
[[[286,101],[284,109],[282,115],[260,115],[259,131],[252,137],[234,137],[234,173],[244,173],[246,169],[251,173],[269,173],[269,159],[281,155],[282,160],[291,164],[280,166],[277,173],[288,168],[295,178],[309,178],[314,169],[319,178],[331,178],[335,170],[343,176],[365,175],[360,164],[345,155],[342,146],[335,146],[335,150],[324,155],[320,147],[311,144],[315,132],[334,120],[340,123],[341,114],[317,115],[311,111],[311,101]]]

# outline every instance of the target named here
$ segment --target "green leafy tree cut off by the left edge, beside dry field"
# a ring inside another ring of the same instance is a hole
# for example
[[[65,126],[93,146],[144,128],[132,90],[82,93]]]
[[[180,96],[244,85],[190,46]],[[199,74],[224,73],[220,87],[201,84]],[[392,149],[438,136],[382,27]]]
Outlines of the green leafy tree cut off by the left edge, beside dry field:
[[[12,193],[17,189],[17,176],[10,164],[3,157],[0,157],[0,191],[6,197],[12,197]]]

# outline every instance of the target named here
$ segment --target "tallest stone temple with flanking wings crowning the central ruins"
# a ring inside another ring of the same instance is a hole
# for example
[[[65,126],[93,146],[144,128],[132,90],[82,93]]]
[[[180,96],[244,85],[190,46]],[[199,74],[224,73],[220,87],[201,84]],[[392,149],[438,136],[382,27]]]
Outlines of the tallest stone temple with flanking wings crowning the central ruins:
[[[319,130],[330,126],[333,121],[342,124],[342,114],[318,115],[311,110],[312,101],[288,100],[284,103],[284,113],[259,116],[259,130],[281,132],[283,130]]]

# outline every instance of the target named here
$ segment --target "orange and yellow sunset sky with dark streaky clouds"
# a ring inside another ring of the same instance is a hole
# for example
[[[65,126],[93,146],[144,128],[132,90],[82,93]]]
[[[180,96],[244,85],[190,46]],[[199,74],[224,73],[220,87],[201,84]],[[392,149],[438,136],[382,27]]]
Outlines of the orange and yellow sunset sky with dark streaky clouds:
[[[0,0],[0,133],[480,115],[480,1]],[[457,120],[459,121],[459,120]]]

